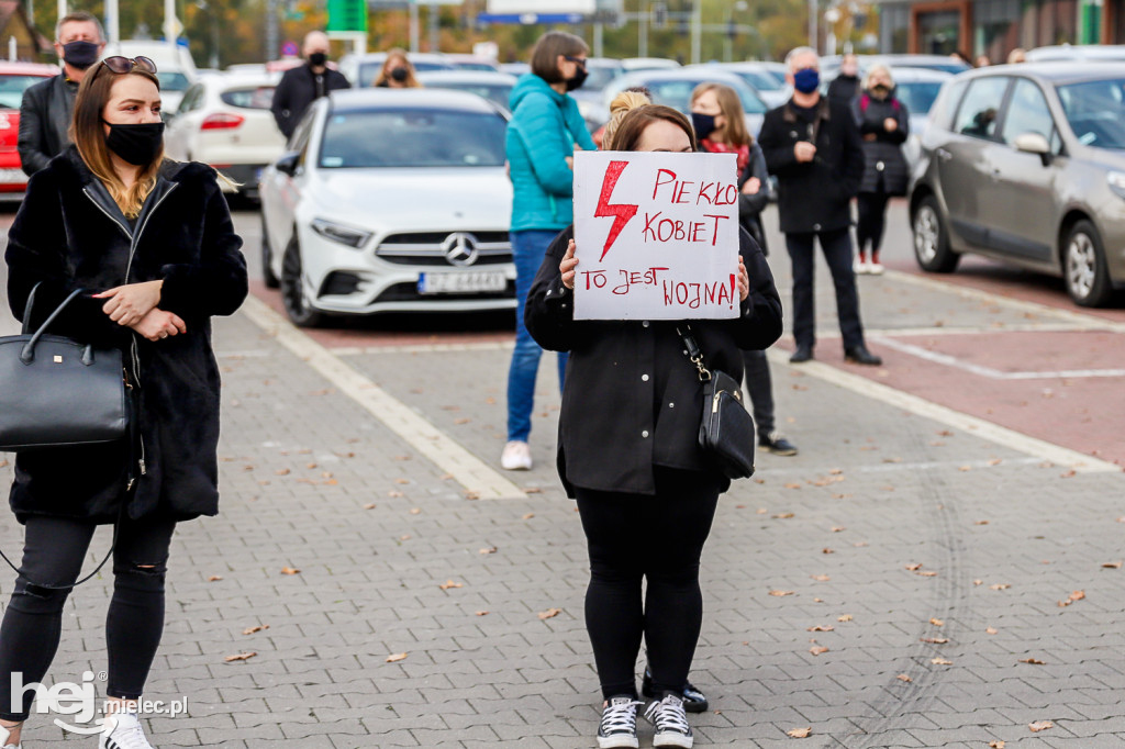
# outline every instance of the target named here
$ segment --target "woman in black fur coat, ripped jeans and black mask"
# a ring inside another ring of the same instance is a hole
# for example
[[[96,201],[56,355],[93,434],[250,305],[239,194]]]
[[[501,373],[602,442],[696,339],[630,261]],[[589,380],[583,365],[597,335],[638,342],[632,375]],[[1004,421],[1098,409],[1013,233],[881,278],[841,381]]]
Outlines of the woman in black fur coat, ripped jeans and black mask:
[[[0,747],[18,747],[34,696],[25,691],[17,710],[11,676],[42,682],[94,527],[108,523],[117,535],[100,746],[150,747],[137,700],[163,631],[172,533],[179,521],[218,512],[210,317],[242,304],[246,265],[215,170],[163,157],[154,73],[147,58],[110,57],[86,76],[71,125],[75,145],[32,178],[8,235],[12,313],[24,316],[37,287],[34,328],[83,289],[51,332],[120,349],[140,408],[133,444],[16,459],[10,504],[26,536],[0,625]],[[79,675],[61,678],[69,676]]]

